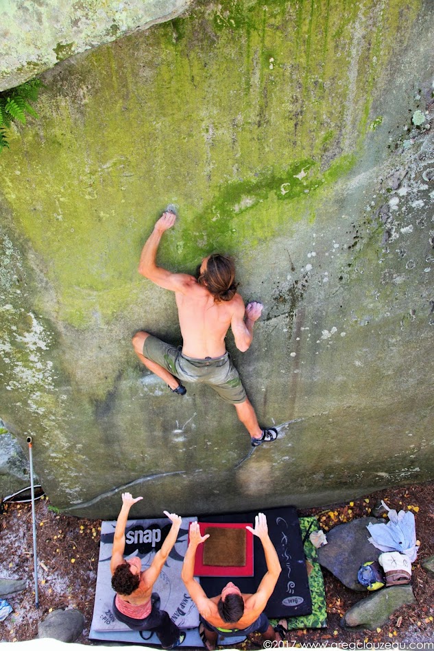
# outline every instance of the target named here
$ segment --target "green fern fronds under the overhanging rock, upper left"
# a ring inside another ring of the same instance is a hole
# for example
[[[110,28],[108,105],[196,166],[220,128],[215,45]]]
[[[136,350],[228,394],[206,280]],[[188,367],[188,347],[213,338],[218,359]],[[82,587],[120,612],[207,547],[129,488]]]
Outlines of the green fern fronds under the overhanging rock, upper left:
[[[31,79],[21,86],[0,93],[0,151],[4,147],[9,147],[7,130],[12,121],[25,124],[26,113],[34,118],[39,117],[29,102],[38,99],[41,86],[43,83],[39,79]]]

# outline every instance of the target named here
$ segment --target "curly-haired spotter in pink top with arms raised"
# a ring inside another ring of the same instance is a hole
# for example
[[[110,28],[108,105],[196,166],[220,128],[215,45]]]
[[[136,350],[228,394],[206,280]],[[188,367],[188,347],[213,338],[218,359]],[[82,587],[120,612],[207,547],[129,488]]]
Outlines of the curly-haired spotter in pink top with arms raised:
[[[181,518],[175,513],[165,515],[172,526],[161,549],[154,556],[151,565],[142,572],[140,558],[134,556],[128,561],[123,558],[125,551],[125,526],[128,513],[133,504],[143,498],[133,498],[131,493],[122,493],[122,508],[114,530],[112,560],[112,588],[116,592],[113,600],[114,617],[127,624],[132,630],[152,630],[156,633],[163,649],[174,649],[185,639],[176,624],[173,624],[166,611],[160,611],[152,594],[152,587],[165,564],[181,526]]]

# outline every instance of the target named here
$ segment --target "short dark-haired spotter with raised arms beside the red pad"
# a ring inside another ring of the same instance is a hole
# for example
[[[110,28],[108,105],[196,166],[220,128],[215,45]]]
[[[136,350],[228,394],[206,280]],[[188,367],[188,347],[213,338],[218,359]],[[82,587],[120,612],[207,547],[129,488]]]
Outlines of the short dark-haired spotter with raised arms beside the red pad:
[[[281,641],[287,634],[285,619],[281,619],[278,626],[272,628],[263,613],[281,572],[278,555],[269,539],[267,518],[263,513],[259,513],[255,518],[254,529],[249,526],[246,526],[246,529],[261,539],[268,572],[254,595],[241,593],[241,590],[230,581],[220,595],[209,599],[193,576],[197,545],[203,543],[209,534],[201,536],[197,522],[192,522],[190,525],[189,547],[185,554],[181,576],[200,613],[200,633],[208,651],[215,649],[219,635],[237,637],[240,634],[260,632],[266,640]]]

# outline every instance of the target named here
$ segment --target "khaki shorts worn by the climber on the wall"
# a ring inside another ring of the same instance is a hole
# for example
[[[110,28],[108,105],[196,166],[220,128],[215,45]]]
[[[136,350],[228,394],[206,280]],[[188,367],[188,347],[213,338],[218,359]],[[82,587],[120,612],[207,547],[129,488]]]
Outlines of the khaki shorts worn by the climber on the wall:
[[[209,384],[225,402],[241,404],[247,397],[228,352],[221,357],[195,359],[183,355],[181,346],[176,348],[148,336],[143,344],[143,355],[167,369],[181,382]]]

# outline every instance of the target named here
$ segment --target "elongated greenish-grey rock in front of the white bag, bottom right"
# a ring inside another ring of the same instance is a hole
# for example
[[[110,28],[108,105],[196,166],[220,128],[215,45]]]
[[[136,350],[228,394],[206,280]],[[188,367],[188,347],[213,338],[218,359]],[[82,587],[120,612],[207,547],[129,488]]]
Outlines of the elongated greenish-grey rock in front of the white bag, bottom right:
[[[376,630],[377,627],[381,628],[387,624],[390,615],[400,606],[414,602],[411,585],[394,585],[382,588],[352,606],[343,616],[341,626]]]

